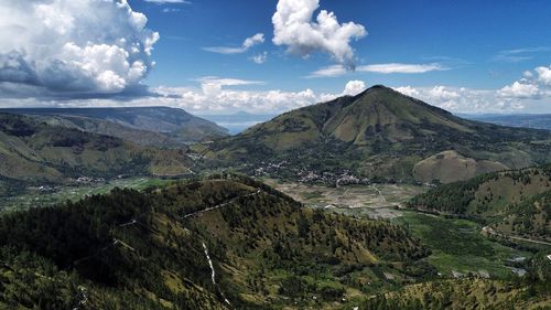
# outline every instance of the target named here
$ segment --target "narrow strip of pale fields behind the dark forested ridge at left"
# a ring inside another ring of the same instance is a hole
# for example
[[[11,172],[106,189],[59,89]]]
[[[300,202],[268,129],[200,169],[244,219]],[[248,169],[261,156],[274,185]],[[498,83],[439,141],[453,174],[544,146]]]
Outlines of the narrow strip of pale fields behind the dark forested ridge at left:
[[[112,180],[104,184],[83,186],[62,186],[55,192],[28,190],[26,193],[13,196],[0,196],[0,212],[26,210],[37,206],[50,206],[60,202],[78,201],[87,195],[106,194],[115,188],[143,190],[149,186],[163,185],[172,180],[151,178],[129,178]]]

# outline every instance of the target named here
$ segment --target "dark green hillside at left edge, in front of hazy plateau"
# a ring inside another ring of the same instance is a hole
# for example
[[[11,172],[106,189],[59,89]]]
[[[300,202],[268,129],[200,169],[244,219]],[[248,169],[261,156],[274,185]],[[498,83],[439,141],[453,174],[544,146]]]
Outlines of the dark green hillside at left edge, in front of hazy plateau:
[[[119,174],[184,174],[185,150],[159,150],[122,139],[0,114],[0,190]]]

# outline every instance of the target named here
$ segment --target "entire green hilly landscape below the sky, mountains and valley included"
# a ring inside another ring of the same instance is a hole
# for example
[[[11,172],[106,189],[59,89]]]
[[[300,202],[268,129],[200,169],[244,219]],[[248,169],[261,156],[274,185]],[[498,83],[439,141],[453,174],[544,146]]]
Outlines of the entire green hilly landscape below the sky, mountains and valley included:
[[[370,118],[381,110],[390,122]],[[547,131],[468,122],[383,86],[203,141],[177,138],[190,126],[177,117],[141,116],[153,111],[0,115],[0,307],[442,309],[468,297],[473,307],[537,309],[551,300]],[[375,124],[343,125],[358,113]],[[347,140],[332,126],[365,132]],[[439,126],[449,127],[441,141],[430,132]],[[467,138],[488,128],[501,142]],[[304,140],[303,130],[320,136]],[[464,291],[447,299],[455,287]]]

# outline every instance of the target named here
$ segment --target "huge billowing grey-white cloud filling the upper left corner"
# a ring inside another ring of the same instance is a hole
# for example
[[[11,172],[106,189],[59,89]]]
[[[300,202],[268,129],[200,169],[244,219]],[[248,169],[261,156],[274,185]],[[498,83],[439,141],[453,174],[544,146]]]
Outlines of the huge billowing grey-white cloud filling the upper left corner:
[[[147,22],[126,0],[0,0],[2,94],[33,88],[93,96],[134,88],[154,65],[159,33]]]

